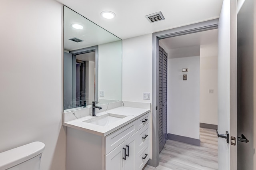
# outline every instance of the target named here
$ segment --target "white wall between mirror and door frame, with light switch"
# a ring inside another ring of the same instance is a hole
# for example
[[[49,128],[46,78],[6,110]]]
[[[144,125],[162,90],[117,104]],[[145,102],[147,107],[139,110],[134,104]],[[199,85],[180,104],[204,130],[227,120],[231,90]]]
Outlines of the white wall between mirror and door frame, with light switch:
[[[152,102],[152,34],[123,40],[122,100]],[[143,92],[150,100],[143,100]]]

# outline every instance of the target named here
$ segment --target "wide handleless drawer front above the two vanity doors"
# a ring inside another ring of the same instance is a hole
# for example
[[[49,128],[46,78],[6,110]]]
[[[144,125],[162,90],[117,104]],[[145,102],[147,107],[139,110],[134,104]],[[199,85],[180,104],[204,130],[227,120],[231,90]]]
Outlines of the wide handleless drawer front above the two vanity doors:
[[[111,150],[120,145],[124,140],[128,139],[132,134],[137,131],[137,122],[133,121],[128,125],[116,130],[105,137],[105,150],[104,154],[108,154]]]

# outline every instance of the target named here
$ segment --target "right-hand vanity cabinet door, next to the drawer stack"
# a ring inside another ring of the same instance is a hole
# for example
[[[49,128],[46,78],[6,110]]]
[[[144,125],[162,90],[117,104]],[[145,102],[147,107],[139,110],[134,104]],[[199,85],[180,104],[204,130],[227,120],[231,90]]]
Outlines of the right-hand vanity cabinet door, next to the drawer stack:
[[[124,170],[134,170],[135,168],[135,134],[124,141],[126,148],[126,160],[124,161]]]

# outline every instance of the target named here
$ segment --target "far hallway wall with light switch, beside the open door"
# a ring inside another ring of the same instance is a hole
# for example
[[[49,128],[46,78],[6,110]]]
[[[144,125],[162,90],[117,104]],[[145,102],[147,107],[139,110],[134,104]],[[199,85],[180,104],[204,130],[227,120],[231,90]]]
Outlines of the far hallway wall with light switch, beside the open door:
[[[200,123],[218,125],[217,43],[200,46]]]

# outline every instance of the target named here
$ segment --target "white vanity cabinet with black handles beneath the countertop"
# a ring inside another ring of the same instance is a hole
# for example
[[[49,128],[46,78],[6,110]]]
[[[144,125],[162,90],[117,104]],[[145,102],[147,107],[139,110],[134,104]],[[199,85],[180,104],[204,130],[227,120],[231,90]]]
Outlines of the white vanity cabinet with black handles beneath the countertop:
[[[150,158],[150,113],[107,136],[67,127],[66,170],[141,170]]]

